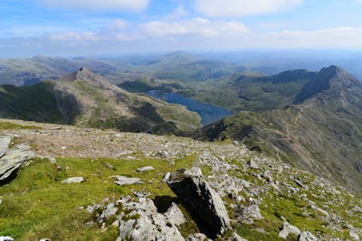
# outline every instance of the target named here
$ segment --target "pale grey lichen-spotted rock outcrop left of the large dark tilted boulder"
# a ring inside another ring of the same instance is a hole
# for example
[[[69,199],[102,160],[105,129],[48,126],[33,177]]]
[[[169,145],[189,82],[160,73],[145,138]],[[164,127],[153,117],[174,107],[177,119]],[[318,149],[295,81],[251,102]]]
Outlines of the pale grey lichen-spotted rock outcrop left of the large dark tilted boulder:
[[[94,208],[96,207],[96,208]],[[92,205],[87,208],[91,213],[98,211],[97,222],[103,227],[107,219],[115,217],[112,226],[119,227],[121,240],[164,240],[184,241],[178,226],[185,223],[186,219],[176,204],[173,204],[165,214],[157,212],[152,199],[131,199],[129,196],[110,203],[106,207]]]

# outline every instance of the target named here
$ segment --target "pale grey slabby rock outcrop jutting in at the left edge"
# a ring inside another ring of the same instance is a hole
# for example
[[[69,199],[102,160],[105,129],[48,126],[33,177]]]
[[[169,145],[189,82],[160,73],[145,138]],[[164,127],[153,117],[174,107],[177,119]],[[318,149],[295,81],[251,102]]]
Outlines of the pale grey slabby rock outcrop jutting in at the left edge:
[[[10,137],[0,137],[0,181],[8,178],[24,162],[34,157],[29,145],[17,144],[9,148],[10,142]]]

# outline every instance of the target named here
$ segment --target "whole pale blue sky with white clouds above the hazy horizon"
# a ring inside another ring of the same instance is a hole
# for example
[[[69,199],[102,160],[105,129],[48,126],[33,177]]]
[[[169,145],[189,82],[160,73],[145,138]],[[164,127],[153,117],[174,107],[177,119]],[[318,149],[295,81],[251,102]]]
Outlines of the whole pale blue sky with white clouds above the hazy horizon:
[[[0,56],[362,49],[362,0],[1,0]]]

